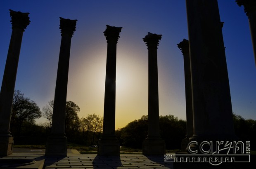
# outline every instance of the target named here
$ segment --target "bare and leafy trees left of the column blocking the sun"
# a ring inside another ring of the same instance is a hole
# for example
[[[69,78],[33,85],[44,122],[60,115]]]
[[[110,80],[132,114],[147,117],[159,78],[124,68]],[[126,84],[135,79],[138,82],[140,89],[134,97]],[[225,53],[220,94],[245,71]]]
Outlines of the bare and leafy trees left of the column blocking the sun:
[[[19,90],[14,91],[10,131],[15,144],[45,144],[52,129],[54,100],[43,106],[24,97]],[[73,101],[66,101],[65,133],[68,142],[83,145],[97,145],[103,130],[103,117],[88,114],[78,117],[80,108]],[[36,119],[45,117],[47,122],[36,124]]]

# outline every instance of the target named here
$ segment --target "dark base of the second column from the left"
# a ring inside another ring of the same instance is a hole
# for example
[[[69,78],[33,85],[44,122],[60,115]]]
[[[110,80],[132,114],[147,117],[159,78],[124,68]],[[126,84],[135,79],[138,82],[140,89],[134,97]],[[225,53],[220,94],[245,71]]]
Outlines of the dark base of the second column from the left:
[[[48,156],[66,156],[67,138],[65,134],[51,134],[46,142],[45,155]]]

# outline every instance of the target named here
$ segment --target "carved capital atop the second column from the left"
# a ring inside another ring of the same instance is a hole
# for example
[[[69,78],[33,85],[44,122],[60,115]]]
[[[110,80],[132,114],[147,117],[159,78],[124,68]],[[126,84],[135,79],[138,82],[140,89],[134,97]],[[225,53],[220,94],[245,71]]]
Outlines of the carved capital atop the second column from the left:
[[[60,19],[60,25],[59,28],[61,30],[61,35],[70,35],[73,36],[73,33],[76,31],[76,19],[64,19],[62,17],[59,17]]]

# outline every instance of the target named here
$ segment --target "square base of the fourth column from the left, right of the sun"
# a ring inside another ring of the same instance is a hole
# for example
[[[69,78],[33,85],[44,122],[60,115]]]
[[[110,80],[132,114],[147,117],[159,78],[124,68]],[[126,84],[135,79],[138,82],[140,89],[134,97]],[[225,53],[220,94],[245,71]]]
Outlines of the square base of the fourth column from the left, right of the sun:
[[[143,155],[164,155],[165,141],[164,140],[143,140],[142,154]]]

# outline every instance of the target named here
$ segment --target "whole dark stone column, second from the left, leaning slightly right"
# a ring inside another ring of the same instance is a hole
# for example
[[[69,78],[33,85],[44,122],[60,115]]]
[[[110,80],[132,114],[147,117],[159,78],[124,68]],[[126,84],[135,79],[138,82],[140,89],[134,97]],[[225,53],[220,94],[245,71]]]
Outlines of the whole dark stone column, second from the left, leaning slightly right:
[[[76,31],[76,21],[60,17],[61,45],[55,87],[55,99],[52,115],[52,131],[46,143],[45,155],[62,155],[67,153],[65,134],[66,93],[69,75],[69,56],[71,38]]]

